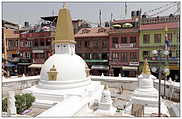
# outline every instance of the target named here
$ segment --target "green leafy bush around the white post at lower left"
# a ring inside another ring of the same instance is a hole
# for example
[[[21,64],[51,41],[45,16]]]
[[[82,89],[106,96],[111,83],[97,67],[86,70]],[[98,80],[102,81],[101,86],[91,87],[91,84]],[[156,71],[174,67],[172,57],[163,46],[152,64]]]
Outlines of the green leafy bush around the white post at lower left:
[[[16,95],[15,99],[15,106],[18,114],[30,108],[32,106],[32,102],[35,101],[35,97],[31,94]],[[7,112],[7,98],[3,100],[3,112]]]

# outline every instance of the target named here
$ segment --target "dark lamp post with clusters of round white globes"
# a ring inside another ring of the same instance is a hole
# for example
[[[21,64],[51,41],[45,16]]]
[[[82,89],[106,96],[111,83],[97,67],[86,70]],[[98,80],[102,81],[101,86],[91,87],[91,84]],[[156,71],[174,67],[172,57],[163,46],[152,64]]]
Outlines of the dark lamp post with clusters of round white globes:
[[[153,50],[152,51],[152,54],[157,56],[159,58],[159,60],[161,60],[161,56],[162,55],[165,55],[167,56],[169,54],[169,52],[167,50]],[[159,67],[152,67],[151,70],[152,72],[159,72],[159,86],[158,86],[158,89],[159,89],[159,100],[158,100],[158,116],[160,117],[161,116],[161,98],[160,98],[160,95],[161,95],[161,78],[162,78],[162,75],[163,74],[167,74],[169,72],[169,69],[167,67],[163,68],[161,67],[162,66],[162,63]],[[164,85],[165,85],[165,81],[164,81]],[[164,91],[165,91],[165,86],[164,86]],[[164,93],[165,94],[165,93]]]

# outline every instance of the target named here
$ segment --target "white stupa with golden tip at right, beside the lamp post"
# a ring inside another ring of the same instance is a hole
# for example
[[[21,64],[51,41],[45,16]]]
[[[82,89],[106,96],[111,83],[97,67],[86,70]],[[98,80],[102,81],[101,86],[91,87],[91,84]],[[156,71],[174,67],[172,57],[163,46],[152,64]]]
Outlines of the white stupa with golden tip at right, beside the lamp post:
[[[136,89],[131,97],[131,102],[125,109],[125,113],[133,116],[142,117],[158,114],[158,90],[153,86],[153,79],[151,75],[147,59],[145,59],[142,74],[138,76],[139,88]],[[161,98],[161,97],[160,97]],[[161,99],[161,113],[169,115],[167,107]]]

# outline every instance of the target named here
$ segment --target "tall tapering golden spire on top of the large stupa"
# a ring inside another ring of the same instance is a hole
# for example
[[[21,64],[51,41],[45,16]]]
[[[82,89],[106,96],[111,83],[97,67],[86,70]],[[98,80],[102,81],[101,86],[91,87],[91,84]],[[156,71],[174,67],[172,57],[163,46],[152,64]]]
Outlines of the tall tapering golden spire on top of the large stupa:
[[[66,3],[64,3],[63,8],[59,10],[55,43],[76,43],[70,11],[66,8]]]

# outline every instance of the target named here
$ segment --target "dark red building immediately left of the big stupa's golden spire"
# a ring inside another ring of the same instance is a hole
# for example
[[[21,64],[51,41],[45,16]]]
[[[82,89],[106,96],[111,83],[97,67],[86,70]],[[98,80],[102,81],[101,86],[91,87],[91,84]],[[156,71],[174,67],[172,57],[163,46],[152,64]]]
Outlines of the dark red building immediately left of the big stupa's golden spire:
[[[40,73],[42,64],[53,53],[52,41],[54,40],[53,32],[34,32],[31,33],[32,41],[32,64],[29,66],[32,75]]]

